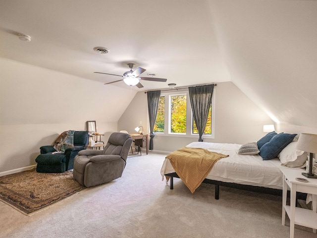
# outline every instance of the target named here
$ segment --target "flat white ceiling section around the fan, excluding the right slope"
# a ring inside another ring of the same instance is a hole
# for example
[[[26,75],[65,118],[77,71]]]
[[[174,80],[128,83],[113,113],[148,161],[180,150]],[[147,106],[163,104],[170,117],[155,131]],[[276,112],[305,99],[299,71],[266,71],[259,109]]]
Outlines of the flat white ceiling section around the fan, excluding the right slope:
[[[129,62],[177,86],[229,81],[210,17],[207,1],[1,0],[1,56],[103,83],[122,78],[93,72],[122,75]]]

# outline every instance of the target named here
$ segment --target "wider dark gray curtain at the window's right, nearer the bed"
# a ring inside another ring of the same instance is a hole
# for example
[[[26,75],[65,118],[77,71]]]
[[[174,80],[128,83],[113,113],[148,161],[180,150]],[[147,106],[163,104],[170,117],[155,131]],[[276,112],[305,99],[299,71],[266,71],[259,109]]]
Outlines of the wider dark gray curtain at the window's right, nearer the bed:
[[[190,103],[193,117],[199,133],[199,142],[203,141],[214,85],[189,87]]]

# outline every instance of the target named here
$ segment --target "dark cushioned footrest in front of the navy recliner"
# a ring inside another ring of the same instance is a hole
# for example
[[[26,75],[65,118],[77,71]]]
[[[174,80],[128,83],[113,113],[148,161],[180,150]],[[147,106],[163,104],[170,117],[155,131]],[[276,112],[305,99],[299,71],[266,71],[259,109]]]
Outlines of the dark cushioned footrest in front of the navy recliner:
[[[66,155],[40,154],[35,161],[38,173],[63,173],[66,171]]]

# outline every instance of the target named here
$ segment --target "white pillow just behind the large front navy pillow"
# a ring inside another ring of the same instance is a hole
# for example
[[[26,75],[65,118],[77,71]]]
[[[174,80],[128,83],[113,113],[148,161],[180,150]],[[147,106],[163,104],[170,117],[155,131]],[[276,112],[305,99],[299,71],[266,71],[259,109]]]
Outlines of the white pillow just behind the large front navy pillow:
[[[306,166],[307,152],[296,149],[297,141],[289,143],[277,156],[281,163],[287,167]]]

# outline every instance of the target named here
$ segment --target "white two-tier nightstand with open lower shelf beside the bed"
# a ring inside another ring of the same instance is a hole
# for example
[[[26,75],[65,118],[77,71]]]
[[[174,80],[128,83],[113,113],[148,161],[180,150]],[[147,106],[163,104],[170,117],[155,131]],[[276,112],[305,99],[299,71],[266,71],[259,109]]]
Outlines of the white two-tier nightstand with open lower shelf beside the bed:
[[[285,225],[285,212],[290,219],[290,238],[294,238],[295,224],[313,228],[314,233],[317,229],[317,179],[308,179],[302,175],[305,170],[298,168],[282,167],[283,173],[283,209],[282,225]],[[299,182],[295,178],[307,179],[309,182]],[[291,191],[290,206],[286,205],[287,186]],[[313,194],[313,210],[295,207],[296,192]]]

